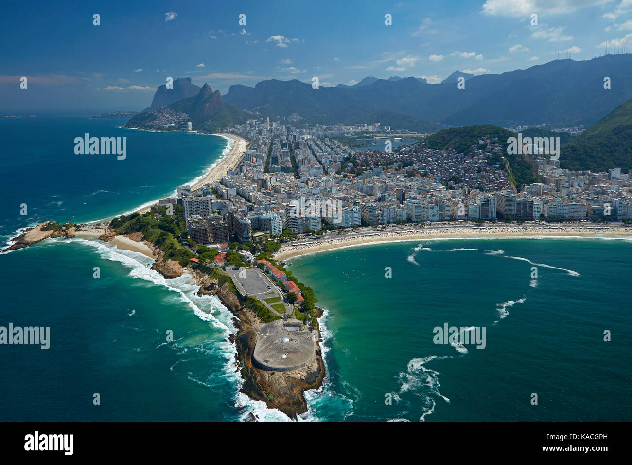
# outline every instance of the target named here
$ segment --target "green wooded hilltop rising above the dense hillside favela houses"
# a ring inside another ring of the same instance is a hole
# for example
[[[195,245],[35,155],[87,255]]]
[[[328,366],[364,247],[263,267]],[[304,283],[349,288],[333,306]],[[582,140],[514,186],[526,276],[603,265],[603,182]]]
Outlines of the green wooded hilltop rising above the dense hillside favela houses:
[[[487,163],[501,163],[507,171],[509,181],[516,189],[522,184],[531,184],[538,181],[538,173],[535,169],[533,157],[528,154],[507,155],[507,139],[517,137],[516,133],[504,128],[485,126],[465,126],[460,128],[443,129],[437,133],[429,135],[424,142],[429,149],[456,149],[461,153],[473,153],[478,149],[478,141],[492,137],[497,139],[501,146],[500,154],[493,154]]]

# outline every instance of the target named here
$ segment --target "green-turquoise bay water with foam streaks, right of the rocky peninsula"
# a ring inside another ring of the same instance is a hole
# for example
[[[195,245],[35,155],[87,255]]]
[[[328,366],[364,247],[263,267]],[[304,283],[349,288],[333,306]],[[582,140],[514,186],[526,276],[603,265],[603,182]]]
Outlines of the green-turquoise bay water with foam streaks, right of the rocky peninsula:
[[[490,239],[292,259],[328,310],[329,386],[312,400],[313,416],[629,420],[631,258],[627,240]],[[434,344],[444,323],[485,326],[485,349]]]

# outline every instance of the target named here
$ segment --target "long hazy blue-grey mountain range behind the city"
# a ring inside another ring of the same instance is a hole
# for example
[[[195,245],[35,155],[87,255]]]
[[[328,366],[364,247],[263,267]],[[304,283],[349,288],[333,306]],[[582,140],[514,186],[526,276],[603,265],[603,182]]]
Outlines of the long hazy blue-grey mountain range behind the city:
[[[632,98],[631,73],[632,54],[619,54],[587,61],[559,59],[499,75],[472,77],[457,71],[441,84],[415,77],[368,77],[351,86],[312,89],[298,80],[271,79],[255,87],[231,85],[223,98],[264,116],[308,123],[369,123],[374,121],[358,118],[389,111],[392,118],[408,116],[427,130],[485,124],[570,127],[590,125]],[[456,85],[459,76],[466,78],[465,89]],[[611,89],[604,89],[605,77]]]

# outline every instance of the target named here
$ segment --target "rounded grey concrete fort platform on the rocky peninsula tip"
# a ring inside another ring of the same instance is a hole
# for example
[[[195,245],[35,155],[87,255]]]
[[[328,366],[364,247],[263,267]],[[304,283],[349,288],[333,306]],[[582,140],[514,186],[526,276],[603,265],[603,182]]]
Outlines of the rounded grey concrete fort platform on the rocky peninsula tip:
[[[270,371],[291,371],[313,362],[316,352],[315,334],[298,331],[298,319],[277,319],[261,326],[257,334],[253,362]]]

